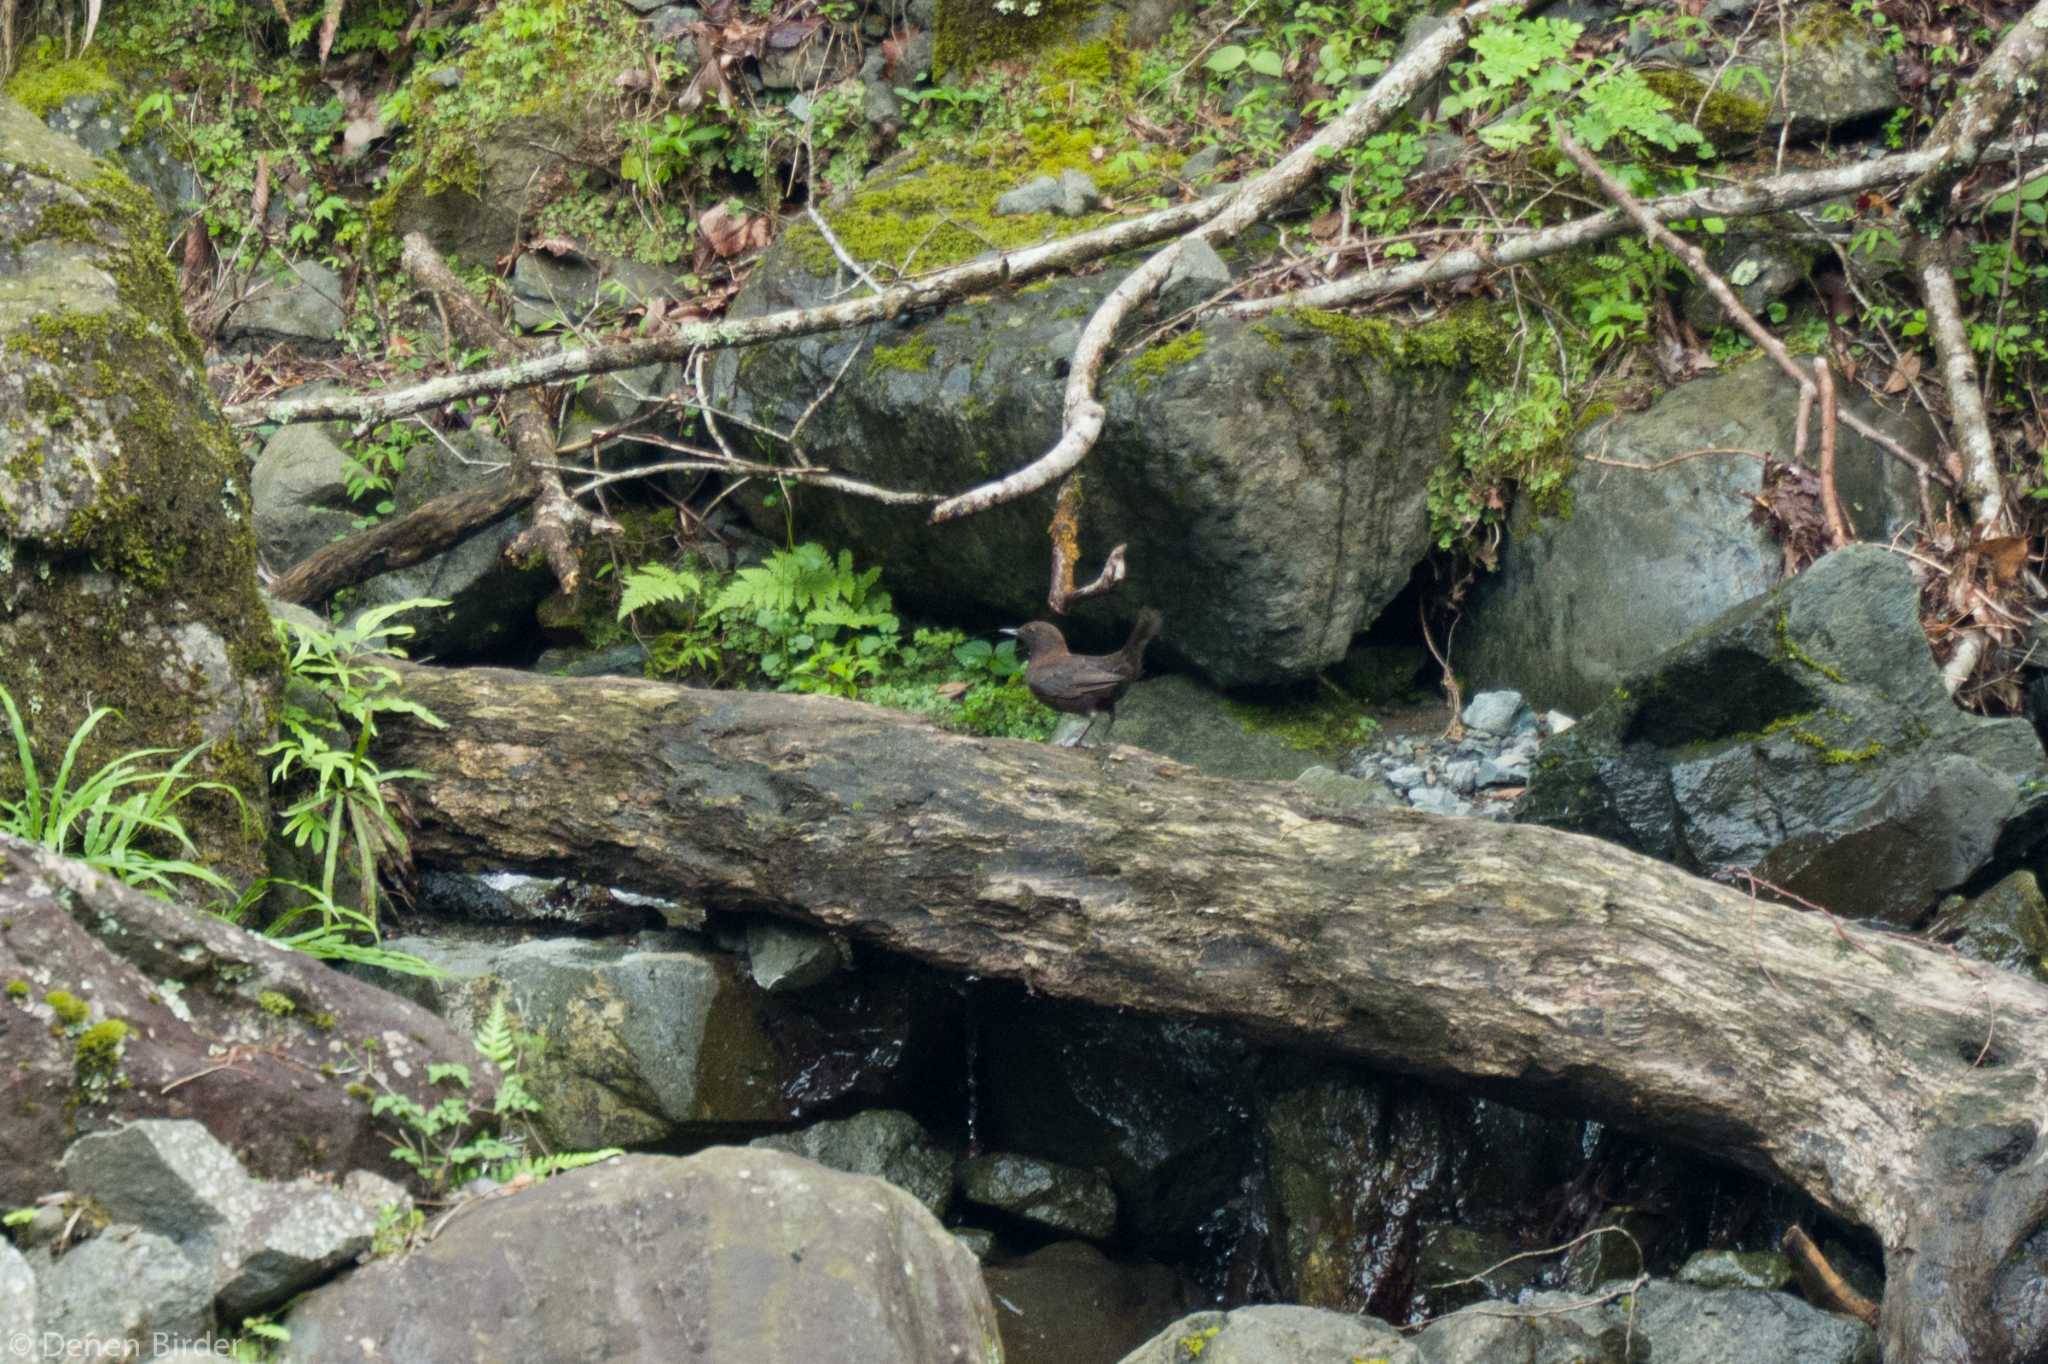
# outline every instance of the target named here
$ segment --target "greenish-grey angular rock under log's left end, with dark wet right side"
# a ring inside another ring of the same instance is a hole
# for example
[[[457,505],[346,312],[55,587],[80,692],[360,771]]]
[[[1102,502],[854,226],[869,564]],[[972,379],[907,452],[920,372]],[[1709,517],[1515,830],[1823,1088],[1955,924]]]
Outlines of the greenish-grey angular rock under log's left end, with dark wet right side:
[[[735,958],[684,934],[387,946],[446,971],[438,981],[373,973],[389,989],[465,1032],[504,999],[545,1038],[528,1090],[541,1128],[565,1149],[760,1131],[854,1094],[887,1100],[918,1059],[911,991],[848,981],[768,995]]]

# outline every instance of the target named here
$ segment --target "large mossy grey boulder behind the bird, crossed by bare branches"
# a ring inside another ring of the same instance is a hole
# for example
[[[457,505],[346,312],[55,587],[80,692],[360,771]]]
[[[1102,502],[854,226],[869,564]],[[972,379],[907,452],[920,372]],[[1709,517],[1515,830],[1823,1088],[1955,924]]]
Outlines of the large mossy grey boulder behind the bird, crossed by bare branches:
[[[918,174],[938,172],[907,178]],[[903,180],[864,186],[852,215],[862,197],[909,193]],[[985,188],[993,203],[1004,184]],[[731,315],[836,297],[831,256],[819,252],[815,233],[786,233]],[[713,365],[713,401],[791,430],[829,389],[803,428],[815,459],[891,487],[961,492],[1051,449],[1073,344],[1120,274],[727,350]],[[1114,604],[1075,612],[1081,633],[1094,625],[1108,637],[1110,614],[1159,606],[1167,647],[1221,686],[1307,678],[1341,659],[1430,549],[1427,477],[1446,459],[1466,383],[1460,338],[1483,330],[1475,322],[1217,322],[1112,369],[1108,424],[1083,465],[1081,528],[1090,557],[1128,543],[1130,578]],[[760,453],[784,455],[776,442]],[[786,508],[752,510],[784,532]],[[883,565],[899,598],[1012,621],[1044,612],[1051,512],[1047,489],[932,526],[926,508],[795,494],[799,532]]]

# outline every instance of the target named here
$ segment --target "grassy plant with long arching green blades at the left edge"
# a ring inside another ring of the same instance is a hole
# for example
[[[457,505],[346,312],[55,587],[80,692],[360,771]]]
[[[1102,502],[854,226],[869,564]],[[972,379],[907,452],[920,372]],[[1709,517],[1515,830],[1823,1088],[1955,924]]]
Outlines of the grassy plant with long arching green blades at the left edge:
[[[86,739],[102,719],[117,715],[111,707],[98,707],[72,733],[57,762],[57,774],[45,782],[35,766],[29,725],[4,686],[0,686],[0,709],[6,711],[14,735],[14,760],[23,784],[18,799],[0,801],[0,829],[88,862],[162,899],[176,889],[174,877],[233,893],[217,870],[193,860],[199,848],[178,817],[178,807],[201,791],[227,795],[248,817],[248,803],[240,791],[225,782],[186,776],[186,768],[207,750],[205,743],[188,748],[164,770],[152,770],[147,764],[174,750],[139,748],[74,782]],[[174,846],[182,856],[154,852],[152,840],[158,848]]]

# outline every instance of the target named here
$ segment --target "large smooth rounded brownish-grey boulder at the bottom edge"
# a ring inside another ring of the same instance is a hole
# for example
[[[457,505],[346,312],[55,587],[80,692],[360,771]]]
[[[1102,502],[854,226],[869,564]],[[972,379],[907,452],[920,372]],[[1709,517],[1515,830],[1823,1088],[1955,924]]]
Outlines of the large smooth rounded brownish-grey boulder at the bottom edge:
[[[999,1360],[973,1253],[915,1198],[780,1151],[629,1155],[485,1200],[313,1290],[281,1360]]]

